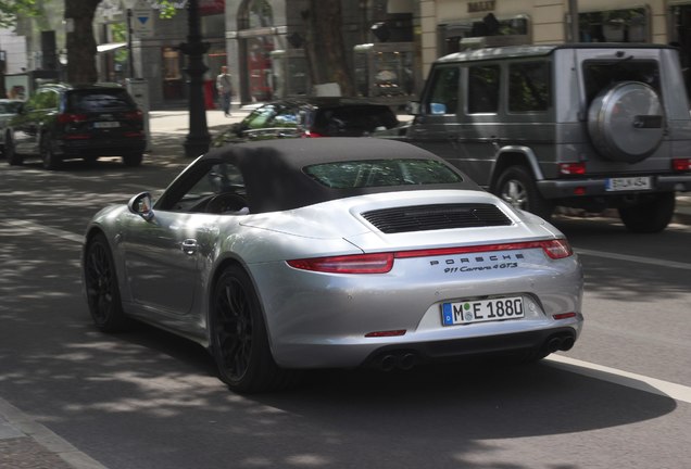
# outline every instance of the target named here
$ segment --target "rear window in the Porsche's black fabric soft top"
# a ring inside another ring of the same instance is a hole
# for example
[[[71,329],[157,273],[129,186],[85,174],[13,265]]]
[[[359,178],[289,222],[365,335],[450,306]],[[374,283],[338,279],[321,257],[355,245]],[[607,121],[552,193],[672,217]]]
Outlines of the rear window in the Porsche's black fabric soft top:
[[[438,185],[463,181],[434,160],[363,160],[305,166],[304,173],[331,189]]]

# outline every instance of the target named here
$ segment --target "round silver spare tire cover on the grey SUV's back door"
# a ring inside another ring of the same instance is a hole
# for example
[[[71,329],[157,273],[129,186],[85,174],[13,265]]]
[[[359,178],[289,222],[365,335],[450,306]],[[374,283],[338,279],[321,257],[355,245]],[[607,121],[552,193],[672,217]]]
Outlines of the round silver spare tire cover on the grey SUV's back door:
[[[665,126],[659,97],[639,81],[620,81],[590,104],[588,131],[603,157],[637,163],[659,147]]]

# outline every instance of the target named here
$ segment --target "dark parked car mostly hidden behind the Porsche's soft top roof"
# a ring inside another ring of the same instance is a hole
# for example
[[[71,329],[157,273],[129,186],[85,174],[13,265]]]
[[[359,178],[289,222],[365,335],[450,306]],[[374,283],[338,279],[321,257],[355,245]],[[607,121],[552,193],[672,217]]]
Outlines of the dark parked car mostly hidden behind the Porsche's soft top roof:
[[[366,137],[399,125],[388,105],[357,100],[284,100],[261,105],[214,138],[214,147],[240,140]]]

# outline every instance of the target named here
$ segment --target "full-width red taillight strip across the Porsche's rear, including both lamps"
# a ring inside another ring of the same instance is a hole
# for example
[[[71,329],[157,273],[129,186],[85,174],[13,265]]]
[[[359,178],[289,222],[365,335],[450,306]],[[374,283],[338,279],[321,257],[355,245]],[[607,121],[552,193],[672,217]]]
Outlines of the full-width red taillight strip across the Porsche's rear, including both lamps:
[[[312,257],[287,261],[290,267],[327,274],[386,274],[393,267],[394,258],[434,257],[441,255],[470,254],[494,251],[541,249],[553,259],[574,254],[565,239],[527,241],[505,244],[485,244],[462,248],[400,251],[395,253],[354,254],[330,257]]]

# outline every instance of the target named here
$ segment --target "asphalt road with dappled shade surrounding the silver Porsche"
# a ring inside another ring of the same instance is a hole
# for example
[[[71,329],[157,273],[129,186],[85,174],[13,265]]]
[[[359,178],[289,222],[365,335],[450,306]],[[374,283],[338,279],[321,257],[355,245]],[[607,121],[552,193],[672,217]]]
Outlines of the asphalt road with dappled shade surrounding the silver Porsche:
[[[234,121],[209,114],[213,131]],[[151,127],[139,168],[0,161],[0,468],[688,467],[691,227],[642,236],[558,217],[585,266],[587,322],[573,351],[540,364],[324,370],[240,396],[196,344],[90,325],[86,221],[189,162],[185,113]]]

